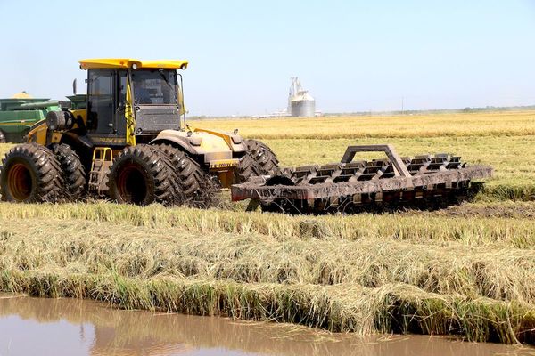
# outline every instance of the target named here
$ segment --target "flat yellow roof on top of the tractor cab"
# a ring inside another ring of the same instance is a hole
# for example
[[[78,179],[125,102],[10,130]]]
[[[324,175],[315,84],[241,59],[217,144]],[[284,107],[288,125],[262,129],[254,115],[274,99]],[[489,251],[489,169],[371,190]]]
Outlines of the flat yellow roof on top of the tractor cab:
[[[155,60],[142,61],[131,58],[97,58],[91,60],[80,60],[81,69],[128,69],[136,64],[137,69],[155,68],[155,69],[186,69],[187,61],[180,60]]]

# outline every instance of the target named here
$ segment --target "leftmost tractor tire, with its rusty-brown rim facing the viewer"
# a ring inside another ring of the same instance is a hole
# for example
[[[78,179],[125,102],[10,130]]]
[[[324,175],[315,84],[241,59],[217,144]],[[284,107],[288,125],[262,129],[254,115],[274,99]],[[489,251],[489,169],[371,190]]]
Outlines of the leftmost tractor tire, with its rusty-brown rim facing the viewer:
[[[17,145],[6,153],[2,164],[2,200],[21,203],[62,200],[62,167],[45,146],[37,143]]]

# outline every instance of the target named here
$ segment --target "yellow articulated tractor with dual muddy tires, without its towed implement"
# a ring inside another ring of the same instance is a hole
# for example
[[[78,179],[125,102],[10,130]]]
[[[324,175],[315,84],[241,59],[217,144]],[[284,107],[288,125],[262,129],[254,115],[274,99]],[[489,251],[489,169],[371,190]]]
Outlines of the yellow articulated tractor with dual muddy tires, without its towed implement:
[[[187,61],[93,59],[86,109],[51,111],[3,159],[4,201],[74,201],[106,194],[119,203],[202,202],[278,169],[265,144],[190,128],[182,76]]]

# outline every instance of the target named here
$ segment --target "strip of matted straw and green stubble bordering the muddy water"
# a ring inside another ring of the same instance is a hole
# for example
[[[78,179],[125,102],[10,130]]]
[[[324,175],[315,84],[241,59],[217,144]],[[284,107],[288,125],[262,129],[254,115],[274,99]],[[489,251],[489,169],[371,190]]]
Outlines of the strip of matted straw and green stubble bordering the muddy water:
[[[283,286],[4,271],[0,290],[94,299],[121,309],[272,320],[358,335],[455,335],[468,341],[505,344],[531,344],[535,340],[535,313],[528,306],[490,302],[486,298],[447,299],[407,285],[374,289],[354,285]],[[463,319],[467,311],[476,312]],[[503,322],[505,316],[507,323]]]

